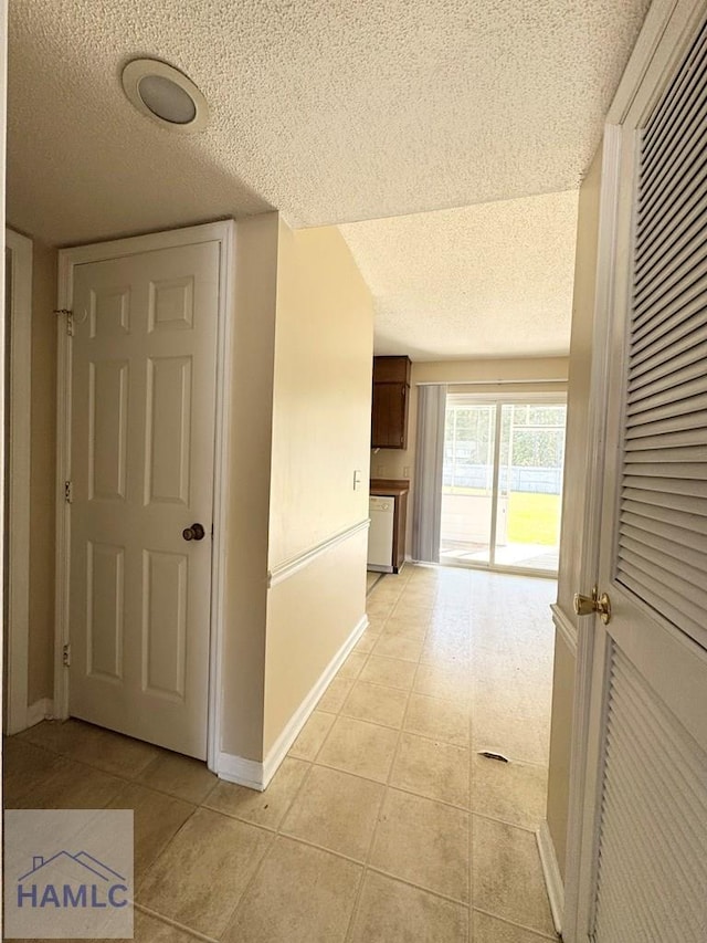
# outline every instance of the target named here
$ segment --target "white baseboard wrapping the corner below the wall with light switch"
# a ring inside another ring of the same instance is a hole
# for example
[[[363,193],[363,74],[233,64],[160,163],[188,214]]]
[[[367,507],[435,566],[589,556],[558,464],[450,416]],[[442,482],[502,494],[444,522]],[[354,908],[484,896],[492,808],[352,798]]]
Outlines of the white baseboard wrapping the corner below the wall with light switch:
[[[267,787],[267,784],[277,772],[279,764],[287,755],[287,751],[297,740],[299,732],[317,706],[319,698],[321,698],[329,687],[331,679],[344,664],[347,656],[367,627],[368,616],[363,615],[341,648],[325,668],[316,684],[292,715],[283,732],[270,748],[264,762],[258,763],[254,759],[244,759],[241,756],[234,756],[231,753],[220,753],[214,771],[219,778],[225,779],[229,783],[238,783],[240,786],[247,786],[250,789],[257,789],[258,792],[263,792]]]

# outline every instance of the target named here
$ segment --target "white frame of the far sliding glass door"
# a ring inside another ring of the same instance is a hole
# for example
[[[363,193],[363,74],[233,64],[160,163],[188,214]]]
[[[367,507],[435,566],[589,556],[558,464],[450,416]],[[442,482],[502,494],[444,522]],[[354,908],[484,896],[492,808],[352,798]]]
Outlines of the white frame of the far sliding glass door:
[[[502,413],[504,406],[564,406],[567,407],[567,391],[562,392],[538,392],[530,390],[528,392],[447,392],[447,402],[451,397],[454,397],[455,404],[467,406],[495,406],[495,422],[494,422],[494,468],[492,478],[492,503],[490,503],[490,530],[489,530],[489,546],[488,560],[465,560],[442,559],[440,554],[440,564],[444,566],[458,566],[465,569],[486,569],[494,573],[514,573],[520,576],[540,576],[547,579],[557,579],[558,572],[556,569],[536,569],[527,566],[514,566],[513,564],[496,563],[496,535],[498,533],[498,501],[500,485],[500,439],[502,439]],[[463,400],[467,400],[466,404]],[[566,425],[567,429],[567,425]],[[564,469],[562,468],[562,472]],[[444,485],[442,485],[444,488]],[[562,492],[564,482],[562,482]],[[561,507],[560,507],[561,511]],[[559,545],[558,545],[559,546]]]

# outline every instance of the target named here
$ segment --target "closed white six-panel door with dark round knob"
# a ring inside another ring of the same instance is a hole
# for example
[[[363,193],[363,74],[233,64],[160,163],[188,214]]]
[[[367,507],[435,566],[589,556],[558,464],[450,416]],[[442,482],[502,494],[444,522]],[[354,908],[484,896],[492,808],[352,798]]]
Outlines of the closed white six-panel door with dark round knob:
[[[74,266],[70,713],[205,758],[218,242]],[[184,539],[201,524],[202,539]]]

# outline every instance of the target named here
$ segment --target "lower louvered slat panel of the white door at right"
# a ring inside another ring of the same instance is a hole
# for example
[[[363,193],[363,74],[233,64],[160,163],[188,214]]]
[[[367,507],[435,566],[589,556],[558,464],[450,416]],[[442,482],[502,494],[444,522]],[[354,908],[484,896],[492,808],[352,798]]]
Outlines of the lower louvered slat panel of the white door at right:
[[[707,754],[613,650],[594,939],[704,943]]]

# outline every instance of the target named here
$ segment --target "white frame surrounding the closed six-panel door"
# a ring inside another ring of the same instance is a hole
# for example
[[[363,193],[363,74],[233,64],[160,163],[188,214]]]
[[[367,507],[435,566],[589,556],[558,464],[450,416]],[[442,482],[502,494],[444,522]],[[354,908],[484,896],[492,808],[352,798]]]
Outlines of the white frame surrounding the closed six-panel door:
[[[224,612],[225,511],[229,489],[229,438],[231,417],[231,345],[235,271],[235,223],[233,220],[155,232],[112,242],[63,249],[59,253],[57,313],[57,413],[56,413],[56,631],[54,653],[54,715],[68,716],[68,672],[63,664],[68,643],[68,578],[71,548],[70,504],[64,483],[71,481],[71,381],[72,339],[65,312],[72,310],[74,266],[125,255],[203,242],[220,243],[219,324],[217,332],[217,404],[213,481],[213,544],[211,564],[211,625],[209,654],[209,720],[207,762],[215,769],[221,746],[221,667]]]

